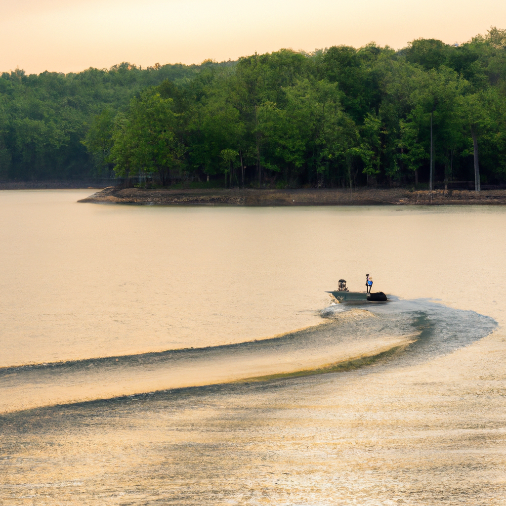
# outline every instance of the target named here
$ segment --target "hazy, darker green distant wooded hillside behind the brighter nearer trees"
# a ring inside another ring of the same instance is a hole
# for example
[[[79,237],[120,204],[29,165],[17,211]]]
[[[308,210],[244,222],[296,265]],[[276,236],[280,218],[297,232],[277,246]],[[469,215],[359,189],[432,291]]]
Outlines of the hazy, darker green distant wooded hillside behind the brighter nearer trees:
[[[118,111],[147,87],[191,78],[198,66],[122,63],[77,74],[22,70],[0,76],[0,178],[108,176]]]

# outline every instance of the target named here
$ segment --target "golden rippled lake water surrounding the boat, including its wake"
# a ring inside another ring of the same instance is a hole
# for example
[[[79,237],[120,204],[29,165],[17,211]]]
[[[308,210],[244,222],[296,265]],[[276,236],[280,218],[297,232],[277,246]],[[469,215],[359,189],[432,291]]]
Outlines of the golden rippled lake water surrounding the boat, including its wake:
[[[0,192],[0,504],[505,503],[506,209],[91,192]]]

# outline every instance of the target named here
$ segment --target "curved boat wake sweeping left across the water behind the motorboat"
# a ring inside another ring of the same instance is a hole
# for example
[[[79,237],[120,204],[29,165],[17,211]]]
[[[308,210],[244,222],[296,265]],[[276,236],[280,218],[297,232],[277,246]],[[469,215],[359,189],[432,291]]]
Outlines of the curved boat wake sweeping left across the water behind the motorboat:
[[[0,369],[0,412],[241,381],[265,381],[394,359],[408,365],[483,338],[497,323],[430,300],[332,305],[322,323],[270,339]]]

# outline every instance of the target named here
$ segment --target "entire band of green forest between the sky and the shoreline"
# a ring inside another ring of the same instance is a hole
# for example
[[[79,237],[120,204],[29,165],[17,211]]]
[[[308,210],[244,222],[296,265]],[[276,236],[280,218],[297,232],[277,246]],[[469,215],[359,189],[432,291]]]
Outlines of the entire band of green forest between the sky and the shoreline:
[[[114,176],[278,188],[500,184],[506,30],[461,45],[416,39],[400,51],[370,43],[0,76],[0,179]]]

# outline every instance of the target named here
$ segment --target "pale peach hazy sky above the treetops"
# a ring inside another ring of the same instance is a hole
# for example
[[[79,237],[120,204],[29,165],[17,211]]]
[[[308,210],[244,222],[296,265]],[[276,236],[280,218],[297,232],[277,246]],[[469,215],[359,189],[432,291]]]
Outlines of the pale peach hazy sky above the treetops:
[[[313,51],[374,40],[469,40],[506,28],[506,0],[0,0],[0,71],[71,72]]]

